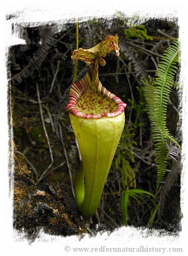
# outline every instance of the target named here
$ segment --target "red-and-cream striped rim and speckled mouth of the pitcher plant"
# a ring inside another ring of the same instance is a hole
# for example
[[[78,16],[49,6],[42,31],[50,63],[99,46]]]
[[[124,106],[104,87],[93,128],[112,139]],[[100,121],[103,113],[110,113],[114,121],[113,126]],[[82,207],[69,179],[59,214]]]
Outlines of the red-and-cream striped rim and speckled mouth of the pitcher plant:
[[[91,67],[80,81],[71,86],[66,109],[76,117],[84,119],[113,118],[120,115],[127,104],[109,92],[98,76],[95,86],[91,88],[93,72],[94,67]]]

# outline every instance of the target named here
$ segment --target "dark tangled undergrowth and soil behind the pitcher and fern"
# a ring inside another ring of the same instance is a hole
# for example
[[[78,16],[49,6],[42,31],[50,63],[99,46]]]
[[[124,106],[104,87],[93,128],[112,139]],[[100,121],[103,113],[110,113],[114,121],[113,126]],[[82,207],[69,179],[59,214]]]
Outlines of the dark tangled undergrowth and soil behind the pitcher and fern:
[[[70,235],[113,230],[125,224],[178,232],[180,158],[178,162],[168,158],[167,171],[155,194],[155,148],[143,90],[143,81],[154,84],[160,58],[172,40],[178,38],[177,20],[145,21],[117,14],[110,21],[92,19],[78,24],[79,47],[85,49],[108,35],[119,36],[120,57],[108,54],[104,58],[106,65],[99,68],[99,78],[103,86],[127,103],[121,141],[97,213],[91,219],[80,219],[73,188],[80,160],[65,111],[74,76],[75,63],[70,56],[76,48],[75,24],[67,24],[67,29],[60,32],[54,32],[55,24],[20,26],[26,45],[16,45],[9,53],[9,117],[10,123],[13,118],[15,154],[14,228],[24,228],[32,237],[41,227],[50,234]],[[79,61],[76,81],[88,69]],[[178,118],[175,84],[168,98],[166,121],[170,133],[181,144]],[[138,194],[138,189],[147,194]]]

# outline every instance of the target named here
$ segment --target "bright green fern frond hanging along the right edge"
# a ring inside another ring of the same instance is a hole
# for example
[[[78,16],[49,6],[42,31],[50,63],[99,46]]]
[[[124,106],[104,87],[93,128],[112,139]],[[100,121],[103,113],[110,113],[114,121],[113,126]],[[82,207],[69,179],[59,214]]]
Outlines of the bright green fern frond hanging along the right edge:
[[[144,85],[144,96],[149,120],[151,122],[151,132],[154,139],[157,164],[157,189],[163,180],[166,172],[168,148],[167,142],[170,140],[176,144],[181,151],[181,146],[169,133],[166,127],[166,111],[169,93],[174,82],[177,70],[176,62],[179,62],[178,52],[180,45],[176,40],[166,49],[156,71],[156,81],[148,82],[142,80]],[[155,86],[154,86],[155,84]],[[180,151],[178,151],[180,153]],[[177,155],[176,155],[177,156]]]

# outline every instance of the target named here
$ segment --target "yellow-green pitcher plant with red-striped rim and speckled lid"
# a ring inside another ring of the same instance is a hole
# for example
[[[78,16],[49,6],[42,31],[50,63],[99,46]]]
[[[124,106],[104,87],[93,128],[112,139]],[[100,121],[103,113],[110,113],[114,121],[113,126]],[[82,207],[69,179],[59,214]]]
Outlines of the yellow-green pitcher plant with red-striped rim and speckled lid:
[[[119,56],[118,35],[104,38],[90,49],[74,50],[72,60],[91,68],[71,85],[66,109],[78,142],[82,161],[75,184],[75,200],[82,216],[96,212],[111,163],[124,128],[126,104],[102,86],[98,71],[107,53]]]

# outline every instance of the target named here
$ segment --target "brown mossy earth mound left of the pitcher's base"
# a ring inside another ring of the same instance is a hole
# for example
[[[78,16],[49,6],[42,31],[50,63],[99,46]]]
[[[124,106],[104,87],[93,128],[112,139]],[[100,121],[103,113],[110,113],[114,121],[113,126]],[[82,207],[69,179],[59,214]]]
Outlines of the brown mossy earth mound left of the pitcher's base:
[[[51,235],[78,235],[86,232],[74,201],[64,195],[65,187],[46,183],[35,185],[22,157],[15,155],[13,227],[34,240],[41,228]]]

